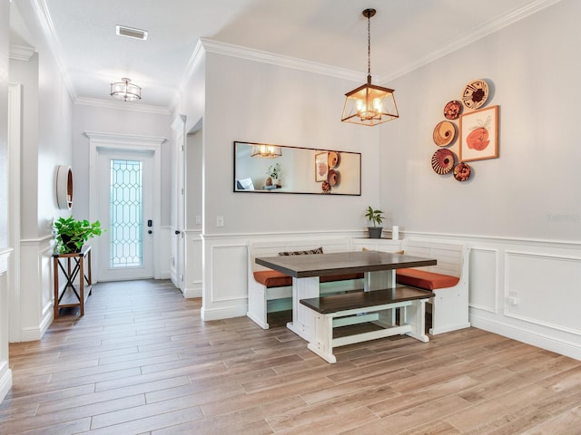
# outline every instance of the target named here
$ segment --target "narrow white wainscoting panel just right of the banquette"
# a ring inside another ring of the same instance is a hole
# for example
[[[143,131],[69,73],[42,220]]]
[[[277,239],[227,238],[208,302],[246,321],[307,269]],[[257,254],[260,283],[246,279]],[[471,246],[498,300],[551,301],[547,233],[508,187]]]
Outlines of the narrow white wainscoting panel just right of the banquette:
[[[498,310],[497,255],[496,249],[470,249],[470,306],[491,313],[497,313]]]

